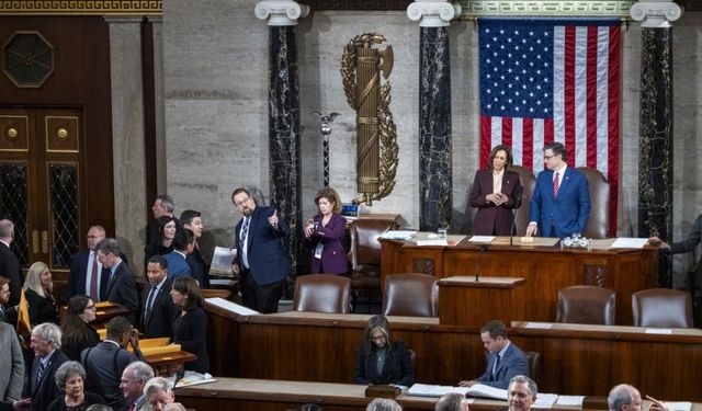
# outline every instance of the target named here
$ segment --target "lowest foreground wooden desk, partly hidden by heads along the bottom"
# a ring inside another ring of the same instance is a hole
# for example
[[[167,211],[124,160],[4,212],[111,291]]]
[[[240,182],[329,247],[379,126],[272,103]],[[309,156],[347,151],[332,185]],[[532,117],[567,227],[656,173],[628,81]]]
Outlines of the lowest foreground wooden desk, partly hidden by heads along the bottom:
[[[176,389],[176,399],[188,408],[208,411],[288,410],[305,403],[317,403],[325,411],[363,410],[372,398],[364,396],[365,386],[351,384],[302,383],[267,379],[218,378],[216,383]],[[433,410],[438,398],[401,395],[397,402],[404,410]],[[475,399],[474,411],[505,409],[507,401]],[[645,406],[644,409],[647,409]],[[605,410],[603,398],[586,398],[584,407],[554,407],[552,410]],[[693,411],[700,411],[699,403]]]

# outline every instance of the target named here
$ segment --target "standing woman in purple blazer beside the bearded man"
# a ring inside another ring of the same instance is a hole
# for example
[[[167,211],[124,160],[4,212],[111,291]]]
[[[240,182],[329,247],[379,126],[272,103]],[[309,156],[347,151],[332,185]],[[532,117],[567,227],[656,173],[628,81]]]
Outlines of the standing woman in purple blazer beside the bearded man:
[[[349,272],[349,262],[342,239],[347,220],[339,215],[339,194],[330,187],[321,189],[315,203],[319,214],[308,219],[305,226],[305,239],[313,247],[312,272],[346,274]]]

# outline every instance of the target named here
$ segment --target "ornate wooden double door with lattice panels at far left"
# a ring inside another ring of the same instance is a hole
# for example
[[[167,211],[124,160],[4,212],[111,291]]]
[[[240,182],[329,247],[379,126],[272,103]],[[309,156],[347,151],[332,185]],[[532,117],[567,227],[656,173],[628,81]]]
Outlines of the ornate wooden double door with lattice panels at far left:
[[[0,215],[15,225],[21,264],[43,261],[58,277],[84,231],[82,129],[79,109],[0,109]]]

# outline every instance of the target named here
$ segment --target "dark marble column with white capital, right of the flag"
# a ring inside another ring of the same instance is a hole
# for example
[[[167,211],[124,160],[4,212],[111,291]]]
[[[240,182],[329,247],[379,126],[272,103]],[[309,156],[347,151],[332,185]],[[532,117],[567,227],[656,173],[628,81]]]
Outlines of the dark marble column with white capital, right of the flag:
[[[672,1],[638,1],[631,9],[642,25],[638,147],[638,237],[672,240],[672,25],[681,9]],[[658,285],[672,284],[660,259]]]

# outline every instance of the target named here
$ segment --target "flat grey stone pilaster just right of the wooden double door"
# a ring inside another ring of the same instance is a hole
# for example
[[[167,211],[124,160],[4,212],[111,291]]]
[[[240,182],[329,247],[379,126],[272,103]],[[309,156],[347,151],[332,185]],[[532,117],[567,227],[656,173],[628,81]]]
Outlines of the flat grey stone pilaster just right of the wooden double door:
[[[144,260],[146,159],[141,18],[105,18],[110,26],[115,238],[129,261]],[[143,274],[141,264],[133,264]]]

